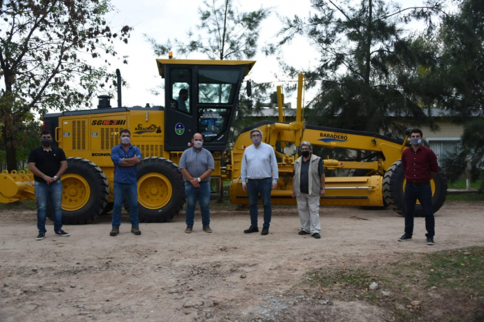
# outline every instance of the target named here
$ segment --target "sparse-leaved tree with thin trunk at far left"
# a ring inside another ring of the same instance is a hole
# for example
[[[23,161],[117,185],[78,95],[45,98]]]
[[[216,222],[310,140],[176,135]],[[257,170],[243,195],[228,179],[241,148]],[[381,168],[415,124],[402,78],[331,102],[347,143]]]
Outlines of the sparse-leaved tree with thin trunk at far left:
[[[16,169],[19,126],[48,108],[80,108],[113,75],[113,39],[127,43],[131,28],[111,31],[109,0],[0,2],[0,122],[9,170]],[[91,58],[103,59],[101,67]],[[126,59],[124,59],[126,63]],[[110,91],[114,84],[108,84]]]

